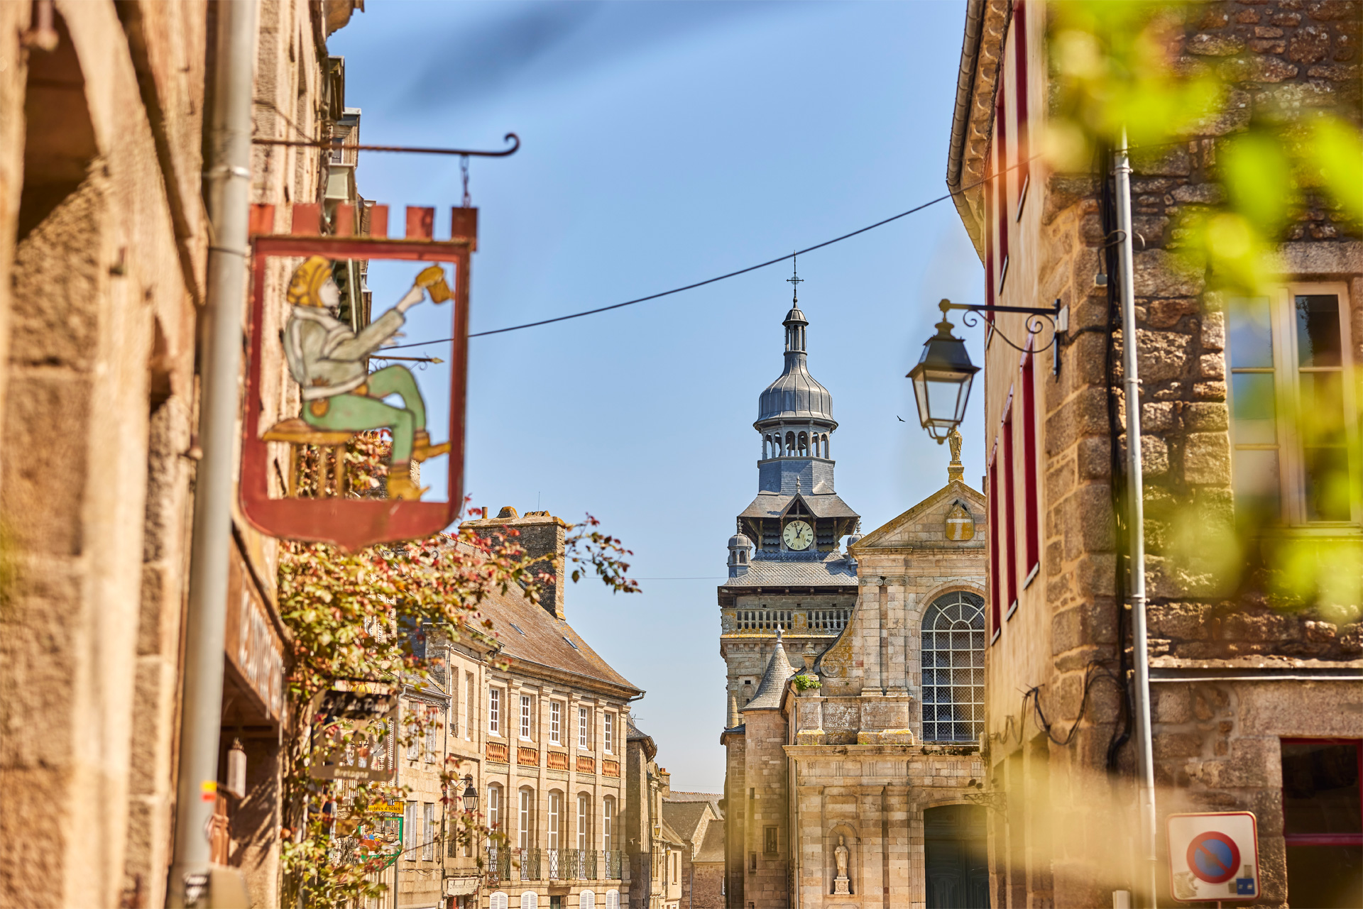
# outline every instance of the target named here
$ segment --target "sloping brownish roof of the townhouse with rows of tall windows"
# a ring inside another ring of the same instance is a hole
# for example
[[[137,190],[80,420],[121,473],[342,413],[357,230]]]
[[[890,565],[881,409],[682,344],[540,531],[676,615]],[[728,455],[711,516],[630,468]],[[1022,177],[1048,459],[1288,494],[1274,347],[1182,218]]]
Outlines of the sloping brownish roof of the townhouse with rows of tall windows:
[[[518,589],[488,597],[478,612],[492,620],[502,653],[517,662],[538,664],[643,694],[612,669],[572,626],[526,600]]]

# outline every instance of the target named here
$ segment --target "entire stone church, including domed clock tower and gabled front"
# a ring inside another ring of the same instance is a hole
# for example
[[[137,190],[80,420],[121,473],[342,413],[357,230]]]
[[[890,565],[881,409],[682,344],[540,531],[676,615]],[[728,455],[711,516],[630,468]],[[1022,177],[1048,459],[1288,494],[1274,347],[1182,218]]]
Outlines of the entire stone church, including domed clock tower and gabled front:
[[[784,324],[758,496],[718,589],[726,905],[988,905],[984,497],[953,459],[945,487],[859,536],[799,304]]]

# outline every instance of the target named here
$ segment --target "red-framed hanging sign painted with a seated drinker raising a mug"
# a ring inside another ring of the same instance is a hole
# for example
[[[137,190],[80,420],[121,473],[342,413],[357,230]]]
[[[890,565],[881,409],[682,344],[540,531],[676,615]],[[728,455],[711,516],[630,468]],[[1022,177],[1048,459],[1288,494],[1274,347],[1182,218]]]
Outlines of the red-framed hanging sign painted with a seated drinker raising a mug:
[[[433,209],[408,209],[401,240],[387,237],[387,206],[361,210],[361,234],[353,207],[335,210],[327,236],[319,206],[288,213],[292,232],[274,233],[275,209],[254,211],[243,514],[271,537],[345,551],[438,533],[463,497],[477,209],[453,210],[448,240],[432,238]],[[386,357],[410,322],[448,346]],[[432,365],[442,368],[424,371]],[[428,421],[436,410],[448,413],[440,427]],[[386,477],[356,484],[358,448],[376,442]],[[443,502],[421,487],[423,467],[443,469]]]

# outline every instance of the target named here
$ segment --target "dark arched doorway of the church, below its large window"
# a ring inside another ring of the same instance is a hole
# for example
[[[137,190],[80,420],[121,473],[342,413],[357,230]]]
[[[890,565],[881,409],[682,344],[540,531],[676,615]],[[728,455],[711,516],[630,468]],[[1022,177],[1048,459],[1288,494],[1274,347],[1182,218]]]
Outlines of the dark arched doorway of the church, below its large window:
[[[927,909],[988,909],[990,863],[981,805],[923,811]]]

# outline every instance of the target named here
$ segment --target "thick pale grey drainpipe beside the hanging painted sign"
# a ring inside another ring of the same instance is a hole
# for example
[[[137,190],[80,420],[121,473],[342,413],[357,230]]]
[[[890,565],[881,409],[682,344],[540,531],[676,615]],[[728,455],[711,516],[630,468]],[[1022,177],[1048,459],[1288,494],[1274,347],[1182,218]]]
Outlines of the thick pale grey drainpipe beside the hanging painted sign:
[[[256,3],[222,0],[214,5],[218,40],[209,134],[210,166],[204,173],[204,199],[213,236],[203,312],[207,323],[199,422],[203,459],[194,491],[174,860],[168,882],[170,906],[207,902],[211,856],[207,834],[217,800],[218,733],[222,724],[222,646],[251,203]]]

